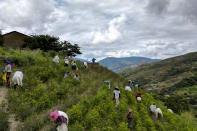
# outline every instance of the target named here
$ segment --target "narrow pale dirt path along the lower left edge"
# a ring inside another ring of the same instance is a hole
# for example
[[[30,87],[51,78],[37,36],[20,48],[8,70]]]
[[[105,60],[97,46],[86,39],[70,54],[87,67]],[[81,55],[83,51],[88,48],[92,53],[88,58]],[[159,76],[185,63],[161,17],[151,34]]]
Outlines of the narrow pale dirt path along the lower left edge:
[[[2,88],[0,87],[0,104],[2,103],[7,103],[7,94],[8,94],[8,89],[7,88]],[[5,109],[7,108],[7,104]],[[6,112],[8,112],[7,110],[5,110]],[[17,129],[17,125],[19,124],[18,121],[15,121],[15,116],[14,114],[10,114],[9,116],[9,127],[10,127],[10,131],[16,131]]]

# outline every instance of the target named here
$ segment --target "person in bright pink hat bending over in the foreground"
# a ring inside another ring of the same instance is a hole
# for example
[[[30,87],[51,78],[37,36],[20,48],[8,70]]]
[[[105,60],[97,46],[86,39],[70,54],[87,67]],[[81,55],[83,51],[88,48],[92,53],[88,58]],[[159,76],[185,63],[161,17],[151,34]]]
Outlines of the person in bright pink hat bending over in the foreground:
[[[50,117],[57,124],[57,131],[68,131],[68,115],[65,112],[55,110]]]

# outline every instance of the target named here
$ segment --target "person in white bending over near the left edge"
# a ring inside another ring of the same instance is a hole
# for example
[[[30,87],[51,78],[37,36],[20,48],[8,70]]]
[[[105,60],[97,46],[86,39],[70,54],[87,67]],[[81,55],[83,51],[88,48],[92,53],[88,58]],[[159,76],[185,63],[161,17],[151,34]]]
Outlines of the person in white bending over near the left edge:
[[[12,77],[12,82],[14,83],[14,88],[16,86],[23,86],[23,73],[22,71],[16,71]]]

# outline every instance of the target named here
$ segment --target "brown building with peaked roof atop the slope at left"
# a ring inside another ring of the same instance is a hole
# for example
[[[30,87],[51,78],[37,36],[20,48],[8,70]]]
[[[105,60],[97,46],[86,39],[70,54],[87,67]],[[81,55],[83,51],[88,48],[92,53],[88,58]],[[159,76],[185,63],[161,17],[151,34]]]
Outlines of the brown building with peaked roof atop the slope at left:
[[[9,48],[14,48],[14,49],[20,48],[24,43],[24,39],[27,37],[29,36],[16,32],[16,31],[7,33],[3,35],[4,46],[9,47]]]

